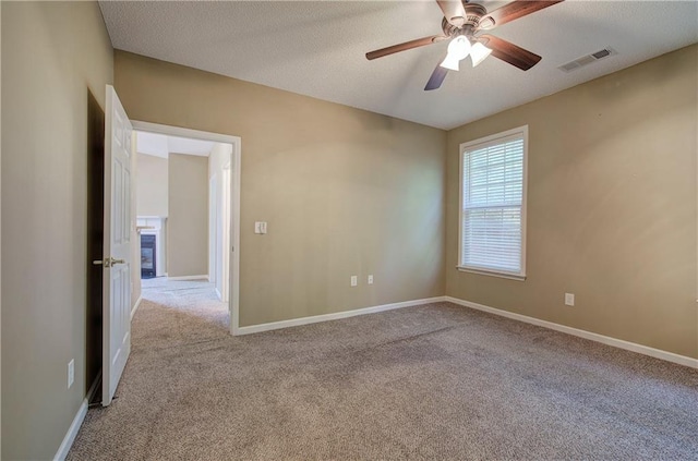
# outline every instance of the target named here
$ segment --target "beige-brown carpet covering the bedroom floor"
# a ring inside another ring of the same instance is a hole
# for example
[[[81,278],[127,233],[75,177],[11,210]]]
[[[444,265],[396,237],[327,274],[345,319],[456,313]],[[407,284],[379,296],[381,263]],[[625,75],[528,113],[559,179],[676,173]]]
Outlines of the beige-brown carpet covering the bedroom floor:
[[[698,459],[687,367],[449,303],[233,338],[158,300],[69,460]]]

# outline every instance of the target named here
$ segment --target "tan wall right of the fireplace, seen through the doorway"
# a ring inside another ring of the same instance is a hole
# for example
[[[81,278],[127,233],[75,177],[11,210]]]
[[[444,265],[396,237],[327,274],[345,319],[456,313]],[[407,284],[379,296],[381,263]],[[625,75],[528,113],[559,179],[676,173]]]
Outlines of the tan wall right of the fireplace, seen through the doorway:
[[[208,158],[170,154],[168,171],[167,275],[207,275]]]

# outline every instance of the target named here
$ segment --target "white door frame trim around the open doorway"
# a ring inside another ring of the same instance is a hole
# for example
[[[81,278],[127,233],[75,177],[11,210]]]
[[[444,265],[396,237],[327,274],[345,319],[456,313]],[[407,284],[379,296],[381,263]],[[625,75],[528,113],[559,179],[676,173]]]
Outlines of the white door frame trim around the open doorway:
[[[230,159],[230,250],[232,257],[228,267],[228,312],[230,315],[230,333],[239,335],[240,322],[240,168],[242,165],[242,139],[220,133],[190,130],[180,126],[131,120],[134,131],[165,134],[169,136],[189,137],[201,141],[213,141],[232,145]],[[137,171],[136,171],[137,174]],[[134,181],[135,183],[135,181]],[[137,192],[136,192],[137,193]]]

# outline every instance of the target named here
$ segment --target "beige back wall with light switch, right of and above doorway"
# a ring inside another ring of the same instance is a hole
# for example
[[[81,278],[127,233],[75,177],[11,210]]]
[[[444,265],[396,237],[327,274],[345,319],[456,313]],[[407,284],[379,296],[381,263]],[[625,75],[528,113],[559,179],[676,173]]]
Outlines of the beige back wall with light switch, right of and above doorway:
[[[115,80],[134,120],[241,137],[241,326],[444,294],[443,131],[121,51]]]

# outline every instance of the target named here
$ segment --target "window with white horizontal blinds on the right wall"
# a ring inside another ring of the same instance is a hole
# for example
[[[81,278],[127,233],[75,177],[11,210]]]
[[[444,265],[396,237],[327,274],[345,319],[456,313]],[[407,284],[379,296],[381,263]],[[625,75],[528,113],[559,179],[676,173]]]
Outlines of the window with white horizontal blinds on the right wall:
[[[460,270],[526,278],[528,126],[460,145]]]

